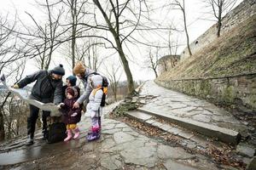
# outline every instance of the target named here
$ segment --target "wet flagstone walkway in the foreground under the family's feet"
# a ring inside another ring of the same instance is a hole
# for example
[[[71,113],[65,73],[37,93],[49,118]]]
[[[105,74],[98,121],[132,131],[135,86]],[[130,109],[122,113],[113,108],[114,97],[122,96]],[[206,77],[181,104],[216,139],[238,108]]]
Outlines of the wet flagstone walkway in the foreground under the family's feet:
[[[107,107],[105,112],[111,111]],[[171,147],[138,133],[123,122],[102,121],[102,138],[86,142],[90,119],[82,117],[79,140],[45,144],[39,136],[32,146],[15,139],[0,147],[1,169],[218,169],[209,158],[191,155],[180,147]],[[21,145],[19,145],[21,143]],[[17,145],[18,144],[18,145]],[[7,152],[9,150],[9,152]],[[14,164],[14,166],[1,165]]]

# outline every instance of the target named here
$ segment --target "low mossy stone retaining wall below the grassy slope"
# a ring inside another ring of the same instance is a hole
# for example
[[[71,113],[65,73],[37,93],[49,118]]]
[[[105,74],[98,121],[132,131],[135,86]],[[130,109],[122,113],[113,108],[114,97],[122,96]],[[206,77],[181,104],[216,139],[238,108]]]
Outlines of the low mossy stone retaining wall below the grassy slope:
[[[256,74],[208,79],[155,81],[178,92],[211,99],[225,105],[241,105],[256,111]]]

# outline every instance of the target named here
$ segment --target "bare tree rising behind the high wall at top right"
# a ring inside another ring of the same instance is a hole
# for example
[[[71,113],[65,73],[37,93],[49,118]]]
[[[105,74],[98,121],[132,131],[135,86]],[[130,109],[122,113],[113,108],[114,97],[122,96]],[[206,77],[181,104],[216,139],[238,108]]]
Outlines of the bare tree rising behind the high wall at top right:
[[[217,37],[219,37],[223,16],[234,7],[237,0],[203,0],[203,2],[207,4],[207,8],[212,9],[212,14],[217,19]]]

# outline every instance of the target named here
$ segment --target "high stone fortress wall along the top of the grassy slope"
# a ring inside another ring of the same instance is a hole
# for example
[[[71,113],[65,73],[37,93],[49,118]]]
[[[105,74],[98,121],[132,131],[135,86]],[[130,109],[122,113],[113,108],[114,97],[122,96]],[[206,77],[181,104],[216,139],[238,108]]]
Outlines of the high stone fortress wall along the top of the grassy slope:
[[[230,13],[226,14],[222,21],[222,29],[220,34],[229,31],[234,26],[238,26],[242,21],[247,20],[251,16],[256,14],[256,1],[255,0],[244,0]],[[217,36],[217,25],[210,27],[205,33],[198,37],[194,42],[190,43],[190,49],[192,54],[206,47],[209,43],[214,41]],[[220,36],[221,36],[220,35]],[[181,54],[181,60],[189,57],[188,48],[185,48]]]

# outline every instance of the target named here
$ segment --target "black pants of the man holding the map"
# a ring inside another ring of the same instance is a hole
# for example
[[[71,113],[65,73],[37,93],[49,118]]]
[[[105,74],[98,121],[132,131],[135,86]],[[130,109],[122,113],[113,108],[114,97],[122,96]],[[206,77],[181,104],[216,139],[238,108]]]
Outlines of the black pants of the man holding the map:
[[[27,117],[27,135],[34,137],[36,123],[38,120],[39,109],[34,105],[29,105],[30,116]],[[47,130],[47,117],[50,116],[50,111],[43,111],[43,131]]]

